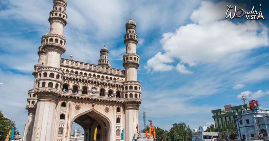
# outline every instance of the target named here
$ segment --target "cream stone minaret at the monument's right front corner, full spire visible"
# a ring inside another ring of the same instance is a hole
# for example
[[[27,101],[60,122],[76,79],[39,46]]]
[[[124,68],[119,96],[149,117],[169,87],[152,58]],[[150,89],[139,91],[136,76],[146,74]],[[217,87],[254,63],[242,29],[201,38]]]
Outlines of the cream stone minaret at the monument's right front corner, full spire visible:
[[[122,95],[125,109],[125,140],[132,140],[138,124],[138,109],[141,103],[141,83],[137,81],[136,70],[139,67],[139,55],[136,54],[136,23],[130,20],[125,24],[126,34],[124,44],[126,53],[123,55],[123,67],[125,68],[125,80],[123,82]]]

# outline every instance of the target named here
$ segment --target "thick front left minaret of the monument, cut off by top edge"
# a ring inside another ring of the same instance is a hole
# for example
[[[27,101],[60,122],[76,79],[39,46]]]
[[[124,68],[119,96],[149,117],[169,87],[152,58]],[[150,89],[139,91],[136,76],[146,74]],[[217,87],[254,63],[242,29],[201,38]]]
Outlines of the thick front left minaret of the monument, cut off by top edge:
[[[54,0],[53,10],[49,13],[50,30],[42,36],[38,50],[39,60],[34,94],[37,96],[31,140],[53,140],[55,109],[57,97],[61,95],[63,70],[60,69],[61,55],[65,52],[66,39],[63,27],[67,24],[65,13],[67,1]],[[44,54],[45,59],[44,59]]]

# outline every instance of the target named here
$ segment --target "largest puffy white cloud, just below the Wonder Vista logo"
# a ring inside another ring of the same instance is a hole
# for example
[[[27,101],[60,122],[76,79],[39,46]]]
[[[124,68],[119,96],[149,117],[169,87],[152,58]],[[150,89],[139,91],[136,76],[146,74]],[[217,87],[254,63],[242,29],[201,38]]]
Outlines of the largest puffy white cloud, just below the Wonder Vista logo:
[[[212,12],[212,8],[223,10]],[[163,34],[160,42],[164,53],[161,55],[194,66],[219,62],[236,53],[268,45],[268,28],[264,24],[250,20],[235,23],[223,19],[225,9],[226,5],[222,2],[202,2],[190,17],[194,23]],[[208,13],[209,16],[201,13]],[[154,60],[154,57],[151,59]],[[147,66],[158,71],[154,69],[155,65],[148,63]]]

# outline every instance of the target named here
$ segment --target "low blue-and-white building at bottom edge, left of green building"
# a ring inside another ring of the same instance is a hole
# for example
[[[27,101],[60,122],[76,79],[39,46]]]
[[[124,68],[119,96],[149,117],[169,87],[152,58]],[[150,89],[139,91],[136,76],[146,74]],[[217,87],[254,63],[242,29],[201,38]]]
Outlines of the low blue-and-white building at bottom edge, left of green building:
[[[214,141],[218,132],[192,132],[192,141]]]

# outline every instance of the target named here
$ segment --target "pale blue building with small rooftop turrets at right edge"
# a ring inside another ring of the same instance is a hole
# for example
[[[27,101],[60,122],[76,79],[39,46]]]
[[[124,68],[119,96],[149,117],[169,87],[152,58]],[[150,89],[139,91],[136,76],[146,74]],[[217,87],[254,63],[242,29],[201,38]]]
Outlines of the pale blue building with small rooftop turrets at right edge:
[[[264,139],[269,132],[269,111],[258,109],[246,110],[241,107],[242,114],[235,113],[235,121],[240,139]]]

